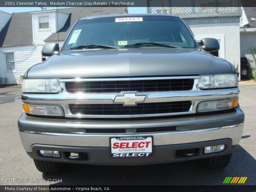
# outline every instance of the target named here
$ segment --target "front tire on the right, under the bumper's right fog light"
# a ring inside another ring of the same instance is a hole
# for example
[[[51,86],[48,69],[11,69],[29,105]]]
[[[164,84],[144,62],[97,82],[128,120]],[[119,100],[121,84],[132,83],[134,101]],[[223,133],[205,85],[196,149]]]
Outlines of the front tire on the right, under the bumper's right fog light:
[[[232,157],[232,153],[223,156],[210,157],[207,159],[203,159],[203,166],[206,169],[222,169],[228,166],[230,159]]]

